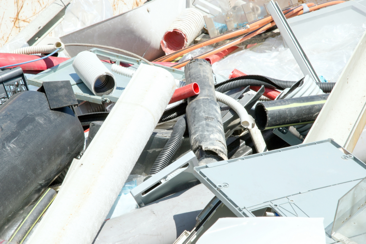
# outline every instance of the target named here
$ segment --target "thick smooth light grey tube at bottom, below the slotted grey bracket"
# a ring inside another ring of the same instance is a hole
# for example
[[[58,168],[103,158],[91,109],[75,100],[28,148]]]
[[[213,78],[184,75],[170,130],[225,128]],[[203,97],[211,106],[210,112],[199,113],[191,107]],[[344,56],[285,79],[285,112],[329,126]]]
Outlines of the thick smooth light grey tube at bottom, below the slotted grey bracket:
[[[213,197],[203,184],[177,192],[109,219],[94,244],[172,244],[184,230],[194,228],[196,217]]]

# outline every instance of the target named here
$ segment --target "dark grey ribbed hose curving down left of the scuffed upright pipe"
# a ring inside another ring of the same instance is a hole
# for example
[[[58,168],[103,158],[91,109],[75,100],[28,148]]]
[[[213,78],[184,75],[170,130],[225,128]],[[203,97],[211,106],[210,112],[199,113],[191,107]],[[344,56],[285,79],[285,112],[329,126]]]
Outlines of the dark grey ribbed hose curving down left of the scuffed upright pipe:
[[[186,105],[187,106],[187,105]],[[159,153],[154,165],[150,169],[150,175],[158,173],[160,170],[168,166],[170,160],[174,154],[178,151],[180,145],[182,144],[183,134],[186,131],[187,118],[182,116],[174,125],[172,134],[165,144],[163,150]]]

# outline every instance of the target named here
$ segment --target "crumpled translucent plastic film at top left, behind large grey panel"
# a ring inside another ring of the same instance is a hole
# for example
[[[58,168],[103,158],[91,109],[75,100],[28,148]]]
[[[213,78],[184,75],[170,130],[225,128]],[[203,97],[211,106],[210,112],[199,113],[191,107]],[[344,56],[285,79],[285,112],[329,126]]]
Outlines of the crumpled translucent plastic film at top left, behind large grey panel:
[[[56,37],[113,17],[108,0],[73,0],[66,8],[64,20],[55,28]]]

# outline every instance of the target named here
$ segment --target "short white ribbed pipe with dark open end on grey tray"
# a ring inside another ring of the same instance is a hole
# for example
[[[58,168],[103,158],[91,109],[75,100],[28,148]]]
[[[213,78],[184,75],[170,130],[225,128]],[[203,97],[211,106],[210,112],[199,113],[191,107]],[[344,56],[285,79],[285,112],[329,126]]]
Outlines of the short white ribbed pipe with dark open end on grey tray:
[[[80,52],[72,62],[72,67],[94,95],[108,95],[116,89],[116,79],[95,53]]]

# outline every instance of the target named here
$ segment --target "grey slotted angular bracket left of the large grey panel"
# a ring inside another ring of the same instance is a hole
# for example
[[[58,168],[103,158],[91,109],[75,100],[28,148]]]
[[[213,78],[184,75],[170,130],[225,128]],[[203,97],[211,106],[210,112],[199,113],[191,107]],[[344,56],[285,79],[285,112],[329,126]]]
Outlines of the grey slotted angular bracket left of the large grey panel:
[[[182,168],[188,164],[188,167]],[[193,175],[193,168],[198,166],[198,161],[193,151],[189,151],[160,172],[131,190],[132,196],[137,204],[142,207],[158,199],[169,196],[178,191],[193,187],[199,184],[198,179]],[[159,184],[160,183],[160,184]],[[157,185],[152,190],[147,190]]]

